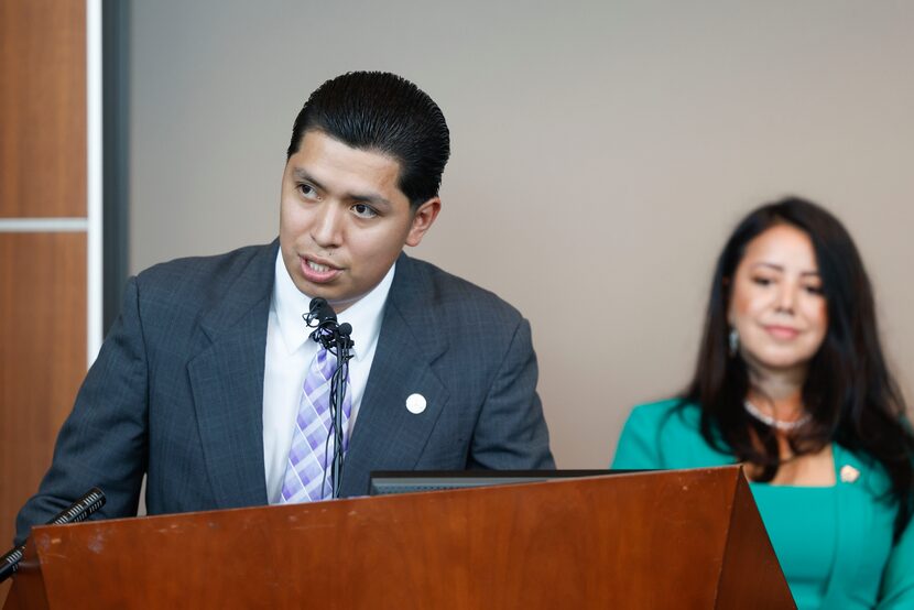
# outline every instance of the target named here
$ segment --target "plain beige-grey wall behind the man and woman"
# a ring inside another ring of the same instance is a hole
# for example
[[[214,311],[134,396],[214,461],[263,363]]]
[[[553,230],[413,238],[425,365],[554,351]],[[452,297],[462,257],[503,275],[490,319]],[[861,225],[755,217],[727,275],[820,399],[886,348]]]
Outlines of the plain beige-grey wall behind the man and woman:
[[[795,193],[849,227],[914,390],[914,3],[134,2],[131,270],[276,235],[325,79],[416,81],[453,132],[415,255],[532,320],[558,464],[686,381],[714,258]]]

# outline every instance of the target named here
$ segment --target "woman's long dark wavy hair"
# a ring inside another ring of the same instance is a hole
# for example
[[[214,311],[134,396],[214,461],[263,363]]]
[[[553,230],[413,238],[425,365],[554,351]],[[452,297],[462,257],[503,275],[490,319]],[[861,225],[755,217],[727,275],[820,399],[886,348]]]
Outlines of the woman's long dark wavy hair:
[[[760,466],[761,481],[774,478],[777,440],[742,409],[749,373],[743,359],[729,353],[727,311],[747,244],[776,225],[796,227],[812,240],[828,311],[828,329],[803,386],[813,418],[792,435],[791,448],[804,455],[837,442],[882,465],[900,506],[897,536],[914,510],[914,436],[882,353],[863,261],[840,221],[821,207],[790,197],[753,210],[737,226],[717,261],[698,363],[681,404],[701,406],[701,434],[711,447]]]

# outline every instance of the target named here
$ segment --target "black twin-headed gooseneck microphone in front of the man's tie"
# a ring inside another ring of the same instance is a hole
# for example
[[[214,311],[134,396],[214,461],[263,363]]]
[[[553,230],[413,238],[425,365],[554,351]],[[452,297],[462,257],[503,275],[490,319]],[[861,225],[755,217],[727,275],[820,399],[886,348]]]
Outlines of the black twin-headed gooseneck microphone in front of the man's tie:
[[[339,324],[336,313],[325,298],[312,298],[308,313],[303,316],[305,324],[314,328],[312,339],[320,344],[324,349],[336,356],[337,368],[330,378],[330,433],[324,444],[324,462],[327,462],[327,449],[330,437],[334,438],[334,456],[330,461],[330,489],[333,498],[339,498],[339,486],[342,480],[342,399],[346,396],[346,380],[349,378],[349,360],[352,355],[349,350],[355,345],[350,335],[352,326],[348,323]],[[324,470],[326,481],[327,470]],[[320,483],[323,493],[324,481]]]

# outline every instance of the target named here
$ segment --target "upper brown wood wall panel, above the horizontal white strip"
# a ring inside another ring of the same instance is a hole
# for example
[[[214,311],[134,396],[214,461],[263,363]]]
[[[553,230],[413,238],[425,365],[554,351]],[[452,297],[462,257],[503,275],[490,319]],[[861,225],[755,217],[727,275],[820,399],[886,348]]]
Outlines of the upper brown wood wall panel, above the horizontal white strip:
[[[85,12],[0,0],[0,217],[86,215]]]

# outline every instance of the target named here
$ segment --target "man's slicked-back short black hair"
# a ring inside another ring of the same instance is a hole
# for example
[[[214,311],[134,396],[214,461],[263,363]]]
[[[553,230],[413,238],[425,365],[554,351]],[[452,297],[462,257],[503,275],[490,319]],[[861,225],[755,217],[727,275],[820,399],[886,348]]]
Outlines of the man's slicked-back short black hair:
[[[401,76],[350,72],[324,83],[295,118],[286,160],[308,131],[399,161],[400,189],[413,207],[438,195],[450,132],[440,108]]]

